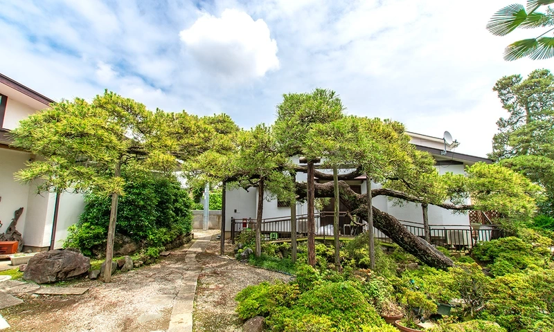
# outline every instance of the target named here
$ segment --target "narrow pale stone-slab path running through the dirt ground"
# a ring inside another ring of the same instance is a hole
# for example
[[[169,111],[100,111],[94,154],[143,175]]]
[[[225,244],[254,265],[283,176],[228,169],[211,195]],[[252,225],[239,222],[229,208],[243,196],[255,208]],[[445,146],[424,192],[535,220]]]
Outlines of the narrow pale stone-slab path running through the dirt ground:
[[[196,255],[204,252],[211,236],[200,237],[191,246],[185,257],[188,270],[183,274],[183,283],[171,312],[168,332],[193,331],[193,308],[195,302],[196,284],[201,266],[196,261]]]

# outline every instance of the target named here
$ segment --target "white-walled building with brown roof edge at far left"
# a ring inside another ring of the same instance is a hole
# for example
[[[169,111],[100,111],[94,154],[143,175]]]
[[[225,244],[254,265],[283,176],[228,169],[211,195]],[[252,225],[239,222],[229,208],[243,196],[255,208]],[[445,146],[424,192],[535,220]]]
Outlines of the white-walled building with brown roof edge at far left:
[[[51,245],[55,194],[37,194],[36,183],[23,185],[14,173],[26,167],[37,156],[10,147],[10,130],[20,120],[49,107],[50,98],[0,74],[0,233],[6,232],[15,210],[24,208],[16,229],[21,233],[24,250],[45,250]],[[76,223],[84,208],[80,194],[60,196],[54,247],[61,248],[67,228]]]

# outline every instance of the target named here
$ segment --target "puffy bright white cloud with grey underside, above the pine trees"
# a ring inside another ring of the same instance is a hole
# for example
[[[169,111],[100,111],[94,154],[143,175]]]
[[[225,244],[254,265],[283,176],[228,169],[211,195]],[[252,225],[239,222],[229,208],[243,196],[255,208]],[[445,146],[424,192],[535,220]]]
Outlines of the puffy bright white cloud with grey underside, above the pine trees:
[[[221,17],[204,14],[179,33],[181,41],[208,72],[244,81],[279,68],[277,42],[263,19],[226,9]]]

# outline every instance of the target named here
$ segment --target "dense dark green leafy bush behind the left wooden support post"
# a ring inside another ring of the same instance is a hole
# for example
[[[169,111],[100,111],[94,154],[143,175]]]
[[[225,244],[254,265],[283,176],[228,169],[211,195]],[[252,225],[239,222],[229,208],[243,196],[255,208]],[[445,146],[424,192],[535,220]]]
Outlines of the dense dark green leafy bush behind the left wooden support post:
[[[120,197],[116,232],[130,237],[157,257],[163,246],[192,230],[192,201],[177,178],[156,174],[134,174],[126,178]],[[64,248],[79,248],[84,255],[93,255],[92,248],[106,246],[111,199],[87,194],[80,221],[69,228]]]

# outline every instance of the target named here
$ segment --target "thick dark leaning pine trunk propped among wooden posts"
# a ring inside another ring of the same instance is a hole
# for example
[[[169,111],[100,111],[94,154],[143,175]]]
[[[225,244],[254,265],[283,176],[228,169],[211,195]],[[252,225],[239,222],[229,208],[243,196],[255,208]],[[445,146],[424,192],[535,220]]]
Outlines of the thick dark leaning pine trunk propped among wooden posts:
[[[332,197],[333,183],[324,183],[315,185],[315,195],[317,197]],[[355,212],[360,218],[368,220],[367,198],[365,194],[356,194],[348,184],[339,182],[339,192],[341,201],[346,208]],[[306,195],[305,183],[296,183],[296,193],[298,196]],[[383,232],[387,237],[393,240],[400,248],[411,253],[425,264],[435,268],[447,269],[454,265],[452,259],[446,257],[442,252],[436,250],[420,237],[416,237],[407,228],[400,223],[394,216],[382,212],[373,207],[373,225]]]

